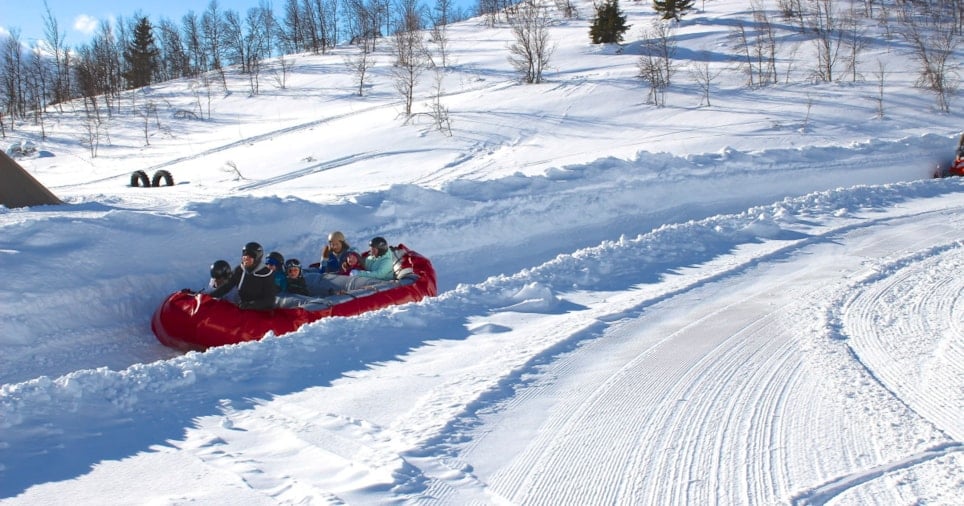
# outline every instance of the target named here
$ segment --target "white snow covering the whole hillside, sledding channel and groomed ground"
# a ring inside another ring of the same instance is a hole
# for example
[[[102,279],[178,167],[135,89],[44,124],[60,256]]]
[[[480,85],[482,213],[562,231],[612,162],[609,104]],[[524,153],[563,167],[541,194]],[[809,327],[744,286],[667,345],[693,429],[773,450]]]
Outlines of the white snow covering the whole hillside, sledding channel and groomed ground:
[[[657,108],[650,7],[617,52],[577,6],[539,85],[504,27],[450,28],[451,136],[405,122],[385,44],[362,97],[348,47],[257,96],[229,74],[210,119],[189,81],[127,96],[93,158],[79,106],[17,125],[67,205],[0,208],[0,503],[964,503],[964,183],[929,177],[960,124],[906,49],[868,32],[883,118],[872,78],[807,81],[806,43],[750,89],[745,3],[709,2],[677,35],[723,70],[713,106],[681,72]],[[152,335],[214,260],[314,261],[333,230],[426,255],[439,296],[204,353]]]

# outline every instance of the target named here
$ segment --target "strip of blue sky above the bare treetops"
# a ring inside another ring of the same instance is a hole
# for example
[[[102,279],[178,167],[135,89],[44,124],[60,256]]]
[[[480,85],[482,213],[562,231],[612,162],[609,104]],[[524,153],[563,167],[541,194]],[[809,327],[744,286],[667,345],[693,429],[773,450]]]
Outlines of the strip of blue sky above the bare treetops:
[[[248,8],[258,5],[258,1],[218,0],[218,4],[222,10],[233,9],[244,13]],[[280,10],[284,0],[273,0],[272,3],[276,10]],[[434,4],[434,0],[426,3]],[[208,0],[165,0],[163,2],[151,2],[147,7],[144,7],[141,2],[112,2],[109,0],[84,0],[82,2],[47,0],[46,3],[54,19],[57,20],[60,33],[66,35],[66,43],[70,47],[86,43],[101,20],[131,18],[138,13],[147,15],[155,23],[165,17],[180,20],[190,10],[198,13],[203,12],[207,9],[208,4]],[[475,6],[477,0],[457,0],[455,4],[463,5],[463,9],[468,9]],[[45,38],[45,14],[46,9],[43,1],[5,0],[3,9],[0,9],[0,33],[6,34],[11,29],[19,29],[20,40],[27,45],[32,45],[35,40]]]

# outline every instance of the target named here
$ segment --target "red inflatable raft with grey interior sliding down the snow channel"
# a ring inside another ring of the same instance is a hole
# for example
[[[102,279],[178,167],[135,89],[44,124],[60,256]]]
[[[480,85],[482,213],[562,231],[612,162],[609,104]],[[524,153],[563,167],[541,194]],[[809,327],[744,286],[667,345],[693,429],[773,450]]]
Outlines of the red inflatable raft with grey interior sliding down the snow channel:
[[[331,316],[355,316],[388,306],[417,302],[437,292],[435,269],[424,256],[399,245],[396,272],[405,277],[349,294],[305,297],[301,307],[244,310],[224,299],[187,290],[172,293],[154,312],[151,330],[157,340],[182,351],[256,341],[268,332],[280,336],[306,323]],[[410,269],[410,270],[409,270]]]

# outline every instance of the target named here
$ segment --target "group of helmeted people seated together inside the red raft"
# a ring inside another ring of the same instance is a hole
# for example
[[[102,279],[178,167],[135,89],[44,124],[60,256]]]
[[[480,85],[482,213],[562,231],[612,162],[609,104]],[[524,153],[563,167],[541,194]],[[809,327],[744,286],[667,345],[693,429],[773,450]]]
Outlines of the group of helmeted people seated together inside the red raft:
[[[226,260],[211,265],[208,294],[215,299],[237,292],[241,309],[270,310],[276,307],[298,307],[306,298],[345,294],[394,280],[395,258],[384,237],[368,243],[369,251],[359,254],[345,234],[332,232],[322,249],[321,261],[303,268],[297,258],[285,260],[272,251],[249,242],[241,249],[241,263],[234,269]]]

